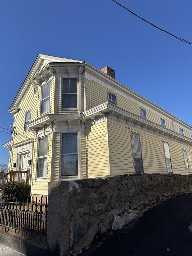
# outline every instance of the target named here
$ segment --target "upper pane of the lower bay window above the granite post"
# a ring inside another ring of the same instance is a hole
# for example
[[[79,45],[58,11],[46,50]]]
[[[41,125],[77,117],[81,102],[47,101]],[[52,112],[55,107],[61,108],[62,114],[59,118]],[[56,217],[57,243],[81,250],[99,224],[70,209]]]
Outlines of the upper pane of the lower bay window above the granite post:
[[[77,153],[77,133],[62,134],[62,154]]]

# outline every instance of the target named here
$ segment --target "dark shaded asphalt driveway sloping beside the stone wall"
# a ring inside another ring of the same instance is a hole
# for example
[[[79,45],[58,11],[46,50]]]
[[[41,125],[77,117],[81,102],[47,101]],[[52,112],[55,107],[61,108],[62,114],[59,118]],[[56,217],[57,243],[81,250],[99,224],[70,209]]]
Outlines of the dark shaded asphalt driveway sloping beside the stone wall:
[[[131,229],[116,231],[86,256],[192,256],[192,193],[146,211]],[[167,251],[169,249],[169,251]]]

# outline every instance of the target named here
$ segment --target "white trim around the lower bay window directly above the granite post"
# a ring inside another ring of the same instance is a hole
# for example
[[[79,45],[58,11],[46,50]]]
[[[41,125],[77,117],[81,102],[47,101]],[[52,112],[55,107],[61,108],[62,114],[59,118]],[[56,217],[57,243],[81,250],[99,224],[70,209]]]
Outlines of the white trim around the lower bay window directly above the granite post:
[[[77,133],[77,153],[62,154],[62,134],[63,133]],[[80,155],[79,155],[79,145],[80,145],[80,132],[60,132],[60,161],[59,161],[59,180],[76,180],[80,179]],[[73,176],[61,176],[61,156],[62,155],[76,155],[77,154],[77,175]]]

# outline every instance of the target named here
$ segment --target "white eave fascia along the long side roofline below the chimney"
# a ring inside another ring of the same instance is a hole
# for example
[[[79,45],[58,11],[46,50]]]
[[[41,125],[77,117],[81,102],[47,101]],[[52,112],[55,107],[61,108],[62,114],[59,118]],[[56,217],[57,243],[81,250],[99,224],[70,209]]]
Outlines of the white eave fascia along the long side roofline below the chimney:
[[[93,65],[91,65],[88,62],[85,63],[85,71],[86,71],[86,69],[89,70],[92,74],[97,75],[98,77],[104,79],[106,82],[111,83],[114,87],[118,88],[119,90],[124,91],[125,93],[130,94],[132,97],[136,98],[139,101],[142,101],[144,104],[148,104],[151,108],[154,108],[158,112],[162,112],[162,114],[168,116],[172,120],[181,122],[183,125],[186,126],[187,129],[192,129],[192,126],[190,126],[189,124],[185,123],[181,119],[179,119],[176,116],[172,115],[171,113],[169,113],[165,109],[159,107],[158,105],[156,105],[152,101],[146,99],[145,97],[141,96],[140,94],[136,93],[135,91],[131,90],[126,85],[118,82],[117,80],[115,80],[111,76],[105,74],[103,71],[99,70],[98,68],[94,67]]]

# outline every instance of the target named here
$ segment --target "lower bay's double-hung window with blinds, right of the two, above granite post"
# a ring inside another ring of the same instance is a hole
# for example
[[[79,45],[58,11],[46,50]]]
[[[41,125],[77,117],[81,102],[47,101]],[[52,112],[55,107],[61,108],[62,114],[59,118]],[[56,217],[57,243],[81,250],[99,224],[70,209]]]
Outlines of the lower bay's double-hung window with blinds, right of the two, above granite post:
[[[78,175],[77,133],[62,133],[61,176]]]

